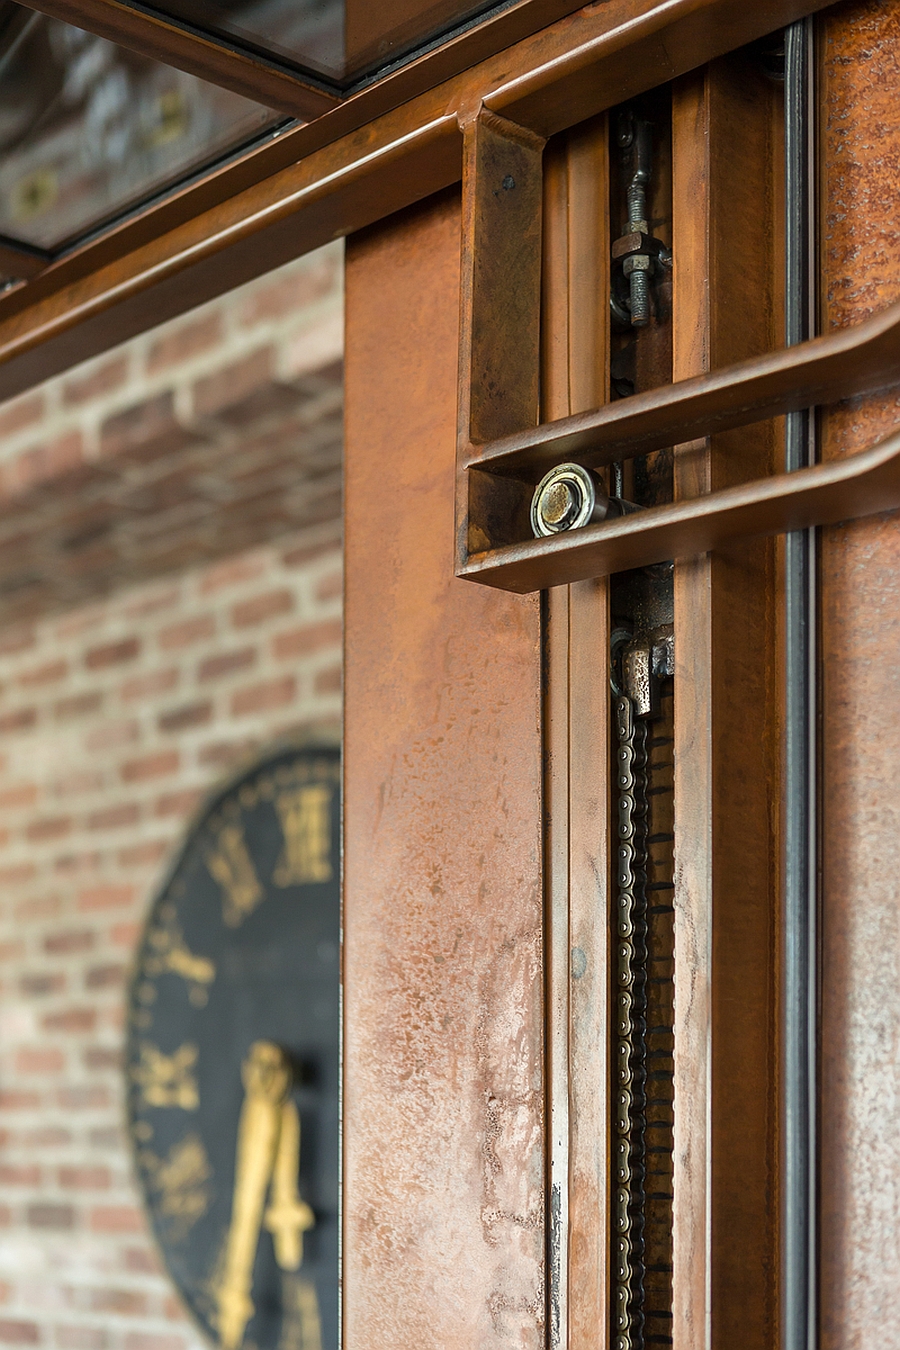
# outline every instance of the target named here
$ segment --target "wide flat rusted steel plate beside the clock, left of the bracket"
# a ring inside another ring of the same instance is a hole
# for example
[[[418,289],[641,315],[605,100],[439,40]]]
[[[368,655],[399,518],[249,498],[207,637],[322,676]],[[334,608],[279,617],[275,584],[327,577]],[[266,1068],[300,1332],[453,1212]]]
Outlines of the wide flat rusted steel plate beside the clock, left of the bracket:
[[[452,576],[459,227],[347,263],[347,1350],[544,1339],[538,608]]]

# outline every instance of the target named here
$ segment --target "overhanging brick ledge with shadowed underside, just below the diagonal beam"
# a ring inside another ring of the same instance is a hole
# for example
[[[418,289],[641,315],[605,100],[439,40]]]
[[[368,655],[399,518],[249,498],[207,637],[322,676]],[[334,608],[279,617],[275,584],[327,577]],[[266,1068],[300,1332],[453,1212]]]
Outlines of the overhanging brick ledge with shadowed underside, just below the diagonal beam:
[[[340,252],[0,405],[0,621],[340,510]]]

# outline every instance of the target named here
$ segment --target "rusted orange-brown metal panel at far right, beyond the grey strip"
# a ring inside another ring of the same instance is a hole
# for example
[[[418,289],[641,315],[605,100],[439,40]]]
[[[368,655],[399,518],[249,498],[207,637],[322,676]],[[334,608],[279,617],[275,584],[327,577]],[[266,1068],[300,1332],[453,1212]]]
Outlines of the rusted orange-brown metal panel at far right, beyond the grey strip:
[[[823,20],[823,320],[900,297],[900,11]],[[895,427],[900,396],[824,420],[826,458]],[[823,531],[820,1301],[824,1350],[900,1345],[900,518]]]

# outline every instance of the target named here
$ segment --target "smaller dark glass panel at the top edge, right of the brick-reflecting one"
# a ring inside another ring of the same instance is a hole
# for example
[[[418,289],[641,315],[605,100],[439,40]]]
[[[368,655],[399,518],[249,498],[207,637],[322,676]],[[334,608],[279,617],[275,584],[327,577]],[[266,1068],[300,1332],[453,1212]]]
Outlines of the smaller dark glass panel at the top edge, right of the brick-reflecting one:
[[[352,84],[495,5],[484,0],[171,0],[166,14]]]

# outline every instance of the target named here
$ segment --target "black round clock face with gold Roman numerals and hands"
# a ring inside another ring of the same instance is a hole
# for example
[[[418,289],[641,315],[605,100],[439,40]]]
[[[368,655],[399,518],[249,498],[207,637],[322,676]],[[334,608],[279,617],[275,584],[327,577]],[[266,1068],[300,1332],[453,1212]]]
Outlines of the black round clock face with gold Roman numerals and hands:
[[[336,1350],[336,751],[289,751],[206,810],[130,996],[128,1123],[169,1272],[224,1350]]]

